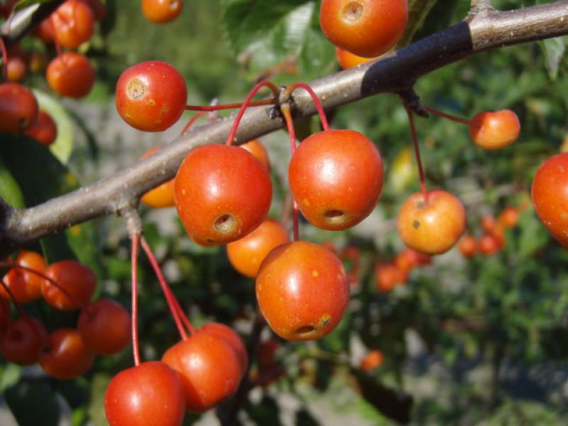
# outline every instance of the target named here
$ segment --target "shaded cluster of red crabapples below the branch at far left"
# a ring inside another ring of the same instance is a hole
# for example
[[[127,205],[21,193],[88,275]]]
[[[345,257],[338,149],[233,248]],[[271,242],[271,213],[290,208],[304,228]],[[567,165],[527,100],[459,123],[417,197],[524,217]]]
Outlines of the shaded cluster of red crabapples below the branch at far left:
[[[74,378],[91,368],[95,356],[124,349],[130,337],[130,315],[114,300],[89,302],[97,285],[94,273],[77,261],[47,265],[40,254],[21,251],[2,278],[0,288],[0,351],[20,365],[39,362],[55,378]],[[58,310],[80,309],[77,329],[60,328],[48,334],[22,304],[39,300]],[[13,302],[19,316],[11,320]]]

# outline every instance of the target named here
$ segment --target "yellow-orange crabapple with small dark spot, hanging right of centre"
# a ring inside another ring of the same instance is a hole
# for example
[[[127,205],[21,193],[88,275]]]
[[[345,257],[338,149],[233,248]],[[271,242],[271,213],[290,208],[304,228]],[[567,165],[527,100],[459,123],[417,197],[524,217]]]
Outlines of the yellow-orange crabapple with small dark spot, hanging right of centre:
[[[457,243],[466,227],[463,204],[449,192],[428,191],[408,197],[398,213],[398,234],[411,249],[427,254],[445,253]]]

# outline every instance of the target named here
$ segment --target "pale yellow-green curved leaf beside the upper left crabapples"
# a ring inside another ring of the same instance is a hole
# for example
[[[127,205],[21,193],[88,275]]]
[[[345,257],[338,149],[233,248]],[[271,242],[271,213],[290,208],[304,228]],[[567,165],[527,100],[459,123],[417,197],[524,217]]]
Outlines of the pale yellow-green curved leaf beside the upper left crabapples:
[[[33,94],[38,99],[40,109],[47,112],[58,126],[58,137],[55,138],[49,149],[61,163],[67,164],[73,151],[74,132],[71,117],[65,111],[65,107],[53,97],[38,89],[34,89]]]

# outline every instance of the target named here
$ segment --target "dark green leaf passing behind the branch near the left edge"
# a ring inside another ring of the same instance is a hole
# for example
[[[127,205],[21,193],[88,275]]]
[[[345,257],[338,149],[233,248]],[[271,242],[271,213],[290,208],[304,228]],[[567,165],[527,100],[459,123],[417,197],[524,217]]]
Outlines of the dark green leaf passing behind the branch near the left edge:
[[[62,165],[43,145],[26,135],[3,135],[0,143],[0,161],[18,185],[23,204],[32,207],[53,197],[76,190],[76,176]],[[97,233],[92,222],[73,226],[65,232],[41,240],[49,263],[64,258],[78,258],[99,271]]]

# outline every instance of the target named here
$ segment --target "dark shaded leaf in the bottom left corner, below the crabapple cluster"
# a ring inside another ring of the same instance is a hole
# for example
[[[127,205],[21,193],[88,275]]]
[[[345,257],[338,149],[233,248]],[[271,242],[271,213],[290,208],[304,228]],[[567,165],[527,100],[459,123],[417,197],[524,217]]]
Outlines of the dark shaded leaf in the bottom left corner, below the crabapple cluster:
[[[20,426],[57,426],[60,406],[57,395],[43,383],[18,383],[4,393]]]

